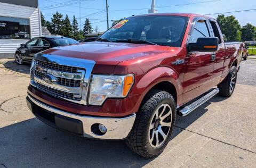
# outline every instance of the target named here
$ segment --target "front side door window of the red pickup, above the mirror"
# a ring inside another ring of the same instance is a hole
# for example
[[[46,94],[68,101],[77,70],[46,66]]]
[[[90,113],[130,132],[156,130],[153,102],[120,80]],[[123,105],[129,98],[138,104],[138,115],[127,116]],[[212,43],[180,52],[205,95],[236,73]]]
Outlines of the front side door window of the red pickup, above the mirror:
[[[195,28],[191,33],[190,43],[196,43],[198,38],[210,37],[210,31],[207,27],[206,20],[198,20]]]

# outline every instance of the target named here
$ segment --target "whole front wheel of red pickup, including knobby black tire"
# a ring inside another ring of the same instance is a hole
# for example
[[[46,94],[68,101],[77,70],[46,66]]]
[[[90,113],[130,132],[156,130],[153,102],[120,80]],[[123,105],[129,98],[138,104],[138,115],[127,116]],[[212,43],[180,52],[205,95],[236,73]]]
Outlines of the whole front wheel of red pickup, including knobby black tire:
[[[173,96],[166,91],[151,90],[137,113],[126,145],[146,158],[161,154],[170,141],[175,119]]]

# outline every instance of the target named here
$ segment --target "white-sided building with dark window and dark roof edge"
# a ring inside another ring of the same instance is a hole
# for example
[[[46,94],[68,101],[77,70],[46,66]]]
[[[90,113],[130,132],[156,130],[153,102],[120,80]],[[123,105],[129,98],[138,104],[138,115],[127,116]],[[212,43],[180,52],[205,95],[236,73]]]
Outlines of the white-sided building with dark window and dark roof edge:
[[[20,44],[41,35],[38,0],[0,0],[0,58],[13,58]]]

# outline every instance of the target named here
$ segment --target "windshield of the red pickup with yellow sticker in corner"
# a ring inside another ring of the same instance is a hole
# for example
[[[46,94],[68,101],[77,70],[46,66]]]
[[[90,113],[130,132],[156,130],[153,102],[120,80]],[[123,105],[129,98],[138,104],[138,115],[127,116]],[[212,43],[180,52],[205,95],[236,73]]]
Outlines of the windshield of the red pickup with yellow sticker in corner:
[[[185,16],[137,16],[118,22],[100,38],[113,42],[140,39],[158,45],[180,47],[187,21]]]

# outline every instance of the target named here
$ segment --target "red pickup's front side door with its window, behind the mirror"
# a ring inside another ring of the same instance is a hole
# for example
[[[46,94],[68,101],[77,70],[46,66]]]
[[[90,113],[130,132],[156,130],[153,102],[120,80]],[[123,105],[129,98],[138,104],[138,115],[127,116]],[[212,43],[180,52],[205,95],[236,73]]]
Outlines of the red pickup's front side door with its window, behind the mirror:
[[[211,29],[206,18],[195,18],[189,32],[188,43],[196,43],[198,38],[211,37]],[[183,80],[183,103],[205,93],[213,87],[213,52],[189,52],[185,58],[186,70]]]

